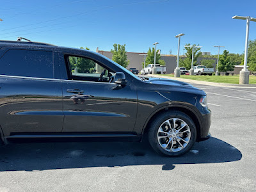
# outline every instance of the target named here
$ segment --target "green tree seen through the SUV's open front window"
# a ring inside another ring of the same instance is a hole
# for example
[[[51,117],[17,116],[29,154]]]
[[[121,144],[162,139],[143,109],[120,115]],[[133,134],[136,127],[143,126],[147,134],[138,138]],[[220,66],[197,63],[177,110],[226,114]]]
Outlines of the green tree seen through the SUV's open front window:
[[[84,49],[84,47],[80,47],[80,49]],[[88,47],[85,49],[90,50]],[[77,72],[79,73],[90,73],[95,67],[95,62],[86,58],[69,56],[68,60],[70,62],[72,72],[77,68]]]

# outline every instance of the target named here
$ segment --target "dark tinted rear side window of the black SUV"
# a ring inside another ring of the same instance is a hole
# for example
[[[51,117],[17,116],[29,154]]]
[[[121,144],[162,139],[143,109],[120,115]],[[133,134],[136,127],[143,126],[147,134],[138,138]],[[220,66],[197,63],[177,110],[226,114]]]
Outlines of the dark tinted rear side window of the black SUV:
[[[53,78],[52,52],[9,50],[0,59],[0,74]]]

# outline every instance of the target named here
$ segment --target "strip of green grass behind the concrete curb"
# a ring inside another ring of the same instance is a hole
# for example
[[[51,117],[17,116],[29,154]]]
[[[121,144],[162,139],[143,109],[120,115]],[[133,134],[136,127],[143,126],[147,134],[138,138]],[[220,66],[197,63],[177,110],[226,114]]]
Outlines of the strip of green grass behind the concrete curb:
[[[173,74],[166,74],[162,76],[173,77]],[[239,75],[234,76],[185,76],[181,75],[180,78],[184,79],[193,79],[198,81],[209,81],[215,83],[231,83],[231,84],[239,84]],[[256,84],[256,76],[249,77],[249,84]]]

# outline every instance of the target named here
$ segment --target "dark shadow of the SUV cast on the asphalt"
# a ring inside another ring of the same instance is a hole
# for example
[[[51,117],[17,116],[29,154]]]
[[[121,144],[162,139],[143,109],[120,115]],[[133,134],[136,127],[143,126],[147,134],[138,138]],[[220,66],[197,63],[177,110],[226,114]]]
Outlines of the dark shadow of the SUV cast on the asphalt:
[[[181,157],[159,156],[147,143],[13,143],[0,147],[0,172],[150,164],[173,170],[177,164],[225,163],[241,158],[237,148],[217,138],[195,143]]]

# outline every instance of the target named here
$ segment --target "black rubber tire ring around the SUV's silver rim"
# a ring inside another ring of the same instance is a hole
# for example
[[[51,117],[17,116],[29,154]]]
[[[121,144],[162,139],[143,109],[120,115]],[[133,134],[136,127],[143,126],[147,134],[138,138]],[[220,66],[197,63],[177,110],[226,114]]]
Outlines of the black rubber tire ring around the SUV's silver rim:
[[[188,145],[183,150],[180,150],[179,152],[168,152],[164,150],[157,141],[157,131],[160,125],[163,124],[163,122],[168,120],[169,118],[180,118],[181,120],[184,120],[184,122],[186,122],[186,124],[188,124],[190,128],[190,132],[191,132],[190,141]],[[164,156],[172,157],[172,156],[181,156],[182,154],[185,154],[186,152],[188,152],[188,150],[191,149],[191,147],[193,147],[195,140],[196,140],[196,127],[193,120],[191,120],[191,118],[188,115],[180,111],[168,111],[167,113],[163,113],[157,116],[157,118],[155,118],[152,124],[150,125],[150,129],[148,132],[148,141],[150,145],[152,146],[152,148],[154,148],[154,150],[156,150],[157,153]]]

